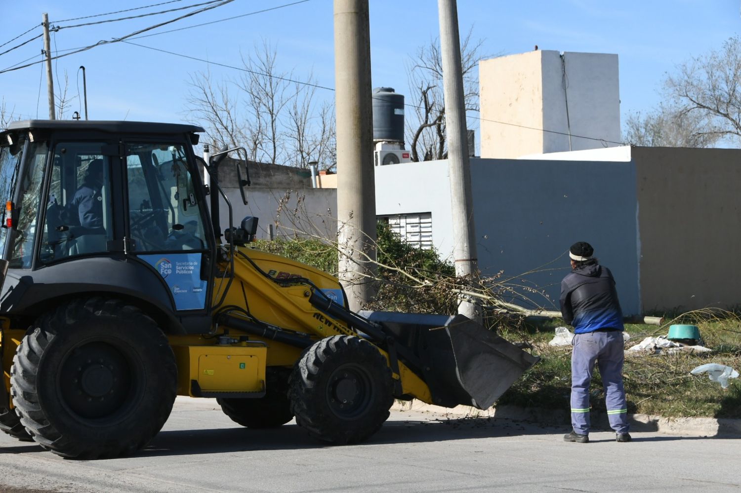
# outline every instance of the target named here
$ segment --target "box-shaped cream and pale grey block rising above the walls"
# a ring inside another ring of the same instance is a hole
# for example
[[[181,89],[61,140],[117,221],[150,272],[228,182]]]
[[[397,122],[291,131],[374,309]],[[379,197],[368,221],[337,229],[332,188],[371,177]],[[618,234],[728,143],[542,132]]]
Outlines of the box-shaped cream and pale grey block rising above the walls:
[[[537,50],[483,60],[479,90],[482,158],[619,145],[617,55]]]

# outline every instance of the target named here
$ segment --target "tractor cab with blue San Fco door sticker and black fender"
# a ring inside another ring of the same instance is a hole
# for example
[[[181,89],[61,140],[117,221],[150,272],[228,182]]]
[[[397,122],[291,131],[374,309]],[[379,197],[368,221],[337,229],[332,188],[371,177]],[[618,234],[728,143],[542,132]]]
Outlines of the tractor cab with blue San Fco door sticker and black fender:
[[[53,298],[109,292],[155,305],[174,332],[205,327],[217,235],[193,154],[202,131],[10,124],[0,134],[1,311],[33,315]]]

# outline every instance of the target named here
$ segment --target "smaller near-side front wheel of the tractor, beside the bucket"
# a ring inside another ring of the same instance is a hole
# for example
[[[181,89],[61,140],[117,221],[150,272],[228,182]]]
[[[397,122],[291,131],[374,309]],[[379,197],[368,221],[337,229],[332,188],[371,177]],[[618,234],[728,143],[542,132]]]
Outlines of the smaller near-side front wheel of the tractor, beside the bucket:
[[[313,437],[362,442],[388,419],[391,369],[370,342],[335,335],[314,343],[296,363],[289,397],[296,423]]]

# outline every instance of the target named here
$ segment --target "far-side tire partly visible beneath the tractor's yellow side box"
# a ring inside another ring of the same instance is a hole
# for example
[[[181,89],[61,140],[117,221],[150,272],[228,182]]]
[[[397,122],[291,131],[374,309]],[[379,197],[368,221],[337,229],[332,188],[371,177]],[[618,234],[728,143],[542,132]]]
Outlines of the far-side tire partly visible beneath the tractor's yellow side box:
[[[268,369],[265,397],[259,399],[217,398],[225,415],[252,429],[277,428],[293,419],[288,400],[287,369]]]

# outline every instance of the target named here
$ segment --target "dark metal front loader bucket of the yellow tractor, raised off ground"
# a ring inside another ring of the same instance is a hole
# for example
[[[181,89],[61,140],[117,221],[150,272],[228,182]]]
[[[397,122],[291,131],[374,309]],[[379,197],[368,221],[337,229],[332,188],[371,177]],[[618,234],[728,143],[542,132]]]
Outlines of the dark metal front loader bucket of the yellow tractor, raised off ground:
[[[464,315],[361,315],[393,335],[399,358],[422,376],[438,406],[488,409],[540,359]]]

